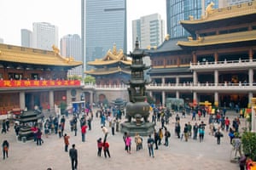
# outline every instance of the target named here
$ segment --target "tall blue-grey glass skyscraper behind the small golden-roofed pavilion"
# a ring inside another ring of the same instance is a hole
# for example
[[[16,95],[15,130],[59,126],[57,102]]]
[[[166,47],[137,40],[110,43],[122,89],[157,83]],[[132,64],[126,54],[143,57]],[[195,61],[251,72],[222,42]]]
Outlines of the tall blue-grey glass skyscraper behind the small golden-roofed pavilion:
[[[84,71],[88,61],[102,59],[108,49],[127,51],[126,0],[81,0],[81,36]]]

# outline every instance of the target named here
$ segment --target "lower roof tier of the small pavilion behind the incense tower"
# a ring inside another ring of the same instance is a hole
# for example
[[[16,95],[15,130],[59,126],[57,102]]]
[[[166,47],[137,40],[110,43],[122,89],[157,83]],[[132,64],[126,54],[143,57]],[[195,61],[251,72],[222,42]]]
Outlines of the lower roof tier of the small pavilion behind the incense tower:
[[[126,74],[131,74],[131,71],[122,69],[120,67],[96,69],[96,70],[85,71],[84,73],[90,74],[90,75],[109,75],[109,74],[114,74],[114,73],[118,73],[118,72],[124,72]]]

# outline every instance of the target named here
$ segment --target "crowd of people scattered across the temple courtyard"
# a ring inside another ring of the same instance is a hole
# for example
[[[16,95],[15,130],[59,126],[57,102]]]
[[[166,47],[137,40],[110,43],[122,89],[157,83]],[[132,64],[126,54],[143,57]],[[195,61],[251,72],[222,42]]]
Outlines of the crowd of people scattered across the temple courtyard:
[[[87,109],[81,113],[73,113],[72,116],[63,115],[59,116],[49,116],[42,122],[33,124],[32,132],[34,134],[34,141],[39,146],[44,144],[43,137],[49,138],[51,135],[56,135],[58,138],[64,140],[64,151],[69,153],[72,161],[72,169],[77,169],[78,167],[78,150],[75,148],[75,144],[72,144],[72,148],[68,150],[69,139],[71,135],[68,133],[73,133],[74,136],[78,135],[78,131],[81,134],[81,141],[86,142],[86,133],[93,130],[92,122],[95,118],[100,119],[99,127],[102,128],[102,137],[96,140],[97,146],[97,156],[102,156],[102,150],[104,157],[111,158],[109,150],[108,138],[110,135],[114,136],[115,133],[119,132],[119,127],[117,126],[120,121],[122,121],[123,113],[113,114],[111,108],[100,108],[97,111],[99,115],[94,117],[92,108]],[[234,145],[236,149],[236,155],[242,157],[241,153],[241,139],[236,134],[239,132],[239,126],[241,124],[240,117],[230,120],[229,116],[225,116],[223,112],[218,111],[214,115],[207,116],[206,111],[193,110],[190,114],[185,111],[172,112],[163,107],[155,107],[151,113],[151,122],[155,124],[154,133],[149,134],[147,140],[144,141],[148,147],[148,155],[154,157],[154,150],[158,150],[160,145],[168,147],[172,145],[171,134],[177,139],[189,142],[189,140],[199,141],[199,143],[204,142],[205,138],[216,138],[217,144],[221,144],[221,138],[224,135],[230,137],[230,144]],[[191,117],[191,119],[189,118]],[[182,120],[183,119],[183,120]],[[184,122],[184,120],[188,122]],[[69,126],[66,123],[69,122]],[[2,133],[7,133],[9,130],[9,123],[4,121],[2,123]],[[70,130],[67,129],[70,127]],[[206,129],[209,128],[209,136],[206,136]],[[95,127],[96,128],[96,127]],[[108,128],[111,131],[108,132]],[[18,135],[19,130],[18,125],[15,125],[15,132]],[[173,131],[172,131],[173,129]],[[175,138],[172,138],[175,139]],[[133,137],[128,132],[123,135],[123,140],[125,143],[125,152],[127,154],[132,154],[132,143],[135,143],[135,150],[143,150],[143,137],[139,133]],[[3,157],[8,157],[9,144],[4,144],[4,155]]]

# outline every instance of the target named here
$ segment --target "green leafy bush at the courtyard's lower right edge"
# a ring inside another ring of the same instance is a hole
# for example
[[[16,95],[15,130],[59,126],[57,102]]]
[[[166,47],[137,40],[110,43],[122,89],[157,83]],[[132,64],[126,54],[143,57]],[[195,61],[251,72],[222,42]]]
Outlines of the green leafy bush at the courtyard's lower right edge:
[[[256,161],[256,133],[244,132],[241,135],[242,150]]]

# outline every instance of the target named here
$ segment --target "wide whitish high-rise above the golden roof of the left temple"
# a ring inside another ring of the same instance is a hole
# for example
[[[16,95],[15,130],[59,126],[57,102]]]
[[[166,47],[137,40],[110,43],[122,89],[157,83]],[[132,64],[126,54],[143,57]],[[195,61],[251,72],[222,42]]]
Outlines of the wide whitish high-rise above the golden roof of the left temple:
[[[58,27],[47,22],[33,23],[33,48],[52,50],[52,46],[59,47]]]

